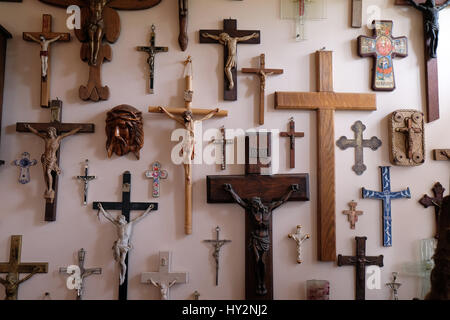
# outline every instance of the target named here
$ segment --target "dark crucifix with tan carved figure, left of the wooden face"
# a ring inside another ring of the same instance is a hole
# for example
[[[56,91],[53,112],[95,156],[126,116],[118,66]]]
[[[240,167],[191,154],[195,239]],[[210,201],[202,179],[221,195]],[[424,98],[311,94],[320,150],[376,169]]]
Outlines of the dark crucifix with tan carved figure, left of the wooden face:
[[[51,120],[47,123],[18,122],[17,132],[31,132],[43,139],[45,151],[41,157],[44,180],[46,184],[45,198],[45,221],[56,220],[56,203],[58,200],[58,176],[59,155],[61,140],[77,133],[94,133],[93,123],[63,123],[62,101],[52,100],[50,102]]]

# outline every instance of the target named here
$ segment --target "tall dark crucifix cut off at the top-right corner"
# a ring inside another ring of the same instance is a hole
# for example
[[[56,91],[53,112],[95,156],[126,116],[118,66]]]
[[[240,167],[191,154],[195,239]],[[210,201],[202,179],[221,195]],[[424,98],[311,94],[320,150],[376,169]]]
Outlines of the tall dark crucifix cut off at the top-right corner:
[[[437,47],[439,11],[450,5],[448,0],[395,0],[395,5],[412,5],[422,12],[424,27],[427,122],[439,119],[439,77]]]

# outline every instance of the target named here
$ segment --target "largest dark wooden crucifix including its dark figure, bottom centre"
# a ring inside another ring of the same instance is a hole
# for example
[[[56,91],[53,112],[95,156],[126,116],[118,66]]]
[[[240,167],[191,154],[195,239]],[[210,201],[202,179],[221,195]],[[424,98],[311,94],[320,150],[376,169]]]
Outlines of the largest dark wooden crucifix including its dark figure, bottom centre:
[[[273,210],[286,201],[309,200],[308,174],[261,174],[271,166],[270,141],[271,133],[247,133],[245,175],[207,176],[208,203],[237,203],[245,209],[247,300],[273,299]]]

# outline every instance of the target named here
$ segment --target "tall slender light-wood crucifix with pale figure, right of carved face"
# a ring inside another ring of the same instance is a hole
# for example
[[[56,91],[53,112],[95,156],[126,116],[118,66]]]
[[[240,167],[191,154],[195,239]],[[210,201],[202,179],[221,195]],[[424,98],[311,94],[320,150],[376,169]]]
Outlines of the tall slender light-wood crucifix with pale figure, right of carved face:
[[[184,91],[184,108],[165,108],[165,107],[149,107],[150,113],[165,113],[170,119],[178,122],[185,129],[182,148],[182,163],[184,166],[184,203],[185,203],[185,233],[192,234],[192,161],[195,158],[194,146],[196,143],[195,126],[199,122],[208,120],[214,116],[226,117],[228,111],[219,110],[219,108],[193,109],[192,97],[192,59],[189,56],[184,62],[185,65],[185,86]],[[194,115],[203,116],[199,120],[193,118]]]

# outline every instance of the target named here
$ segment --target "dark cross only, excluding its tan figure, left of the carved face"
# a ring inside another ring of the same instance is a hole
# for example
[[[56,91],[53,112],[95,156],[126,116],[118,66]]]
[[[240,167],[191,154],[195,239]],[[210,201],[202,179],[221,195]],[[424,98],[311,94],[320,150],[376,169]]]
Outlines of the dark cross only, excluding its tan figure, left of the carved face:
[[[50,102],[51,111],[51,121],[46,123],[30,123],[30,122],[17,122],[16,131],[17,132],[30,132],[27,126],[31,126],[36,129],[39,133],[47,133],[51,128],[56,129],[56,134],[61,135],[70,132],[74,129],[80,128],[78,133],[94,133],[95,125],[93,123],[63,123],[62,120],[62,101],[52,100]],[[59,155],[60,150],[56,153],[57,156],[57,166],[59,167]],[[46,173],[45,173],[46,174]],[[56,220],[56,204],[58,199],[58,174],[55,170],[52,170],[53,178],[53,194],[54,198],[46,198],[45,200],[45,221],[55,221]]]

